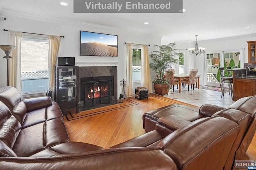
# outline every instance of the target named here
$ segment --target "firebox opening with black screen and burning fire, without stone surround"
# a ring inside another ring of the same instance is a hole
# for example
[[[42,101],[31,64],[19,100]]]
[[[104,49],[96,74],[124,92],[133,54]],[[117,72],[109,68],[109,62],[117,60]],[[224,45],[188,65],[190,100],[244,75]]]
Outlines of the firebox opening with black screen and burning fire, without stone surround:
[[[114,76],[81,78],[84,106],[108,104],[112,100]]]

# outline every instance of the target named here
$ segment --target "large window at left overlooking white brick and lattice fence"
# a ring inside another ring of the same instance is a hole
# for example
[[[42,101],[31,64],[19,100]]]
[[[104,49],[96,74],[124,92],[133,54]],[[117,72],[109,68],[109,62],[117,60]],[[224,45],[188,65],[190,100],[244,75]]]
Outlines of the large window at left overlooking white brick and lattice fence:
[[[22,96],[46,93],[49,78],[48,51],[48,37],[22,37]]]

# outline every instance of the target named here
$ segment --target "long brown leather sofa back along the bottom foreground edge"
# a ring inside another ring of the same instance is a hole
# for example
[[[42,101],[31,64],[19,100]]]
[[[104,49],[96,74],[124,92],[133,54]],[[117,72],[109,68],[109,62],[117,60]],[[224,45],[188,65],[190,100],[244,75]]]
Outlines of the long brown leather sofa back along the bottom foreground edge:
[[[60,169],[60,170],[177,170],[174,160],[160,147],[128,147],[92,152],[62,154],[42,158],[0,157],[1,169]]]

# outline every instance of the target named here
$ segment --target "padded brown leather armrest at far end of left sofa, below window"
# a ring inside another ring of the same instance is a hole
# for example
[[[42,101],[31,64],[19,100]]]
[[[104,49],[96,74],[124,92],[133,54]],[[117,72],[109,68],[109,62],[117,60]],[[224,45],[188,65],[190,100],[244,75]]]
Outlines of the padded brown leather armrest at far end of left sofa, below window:
[[[40,98],[31,98],[23,100],[25,103],[28,112],[41,109],[44,107],[52,106],[52,98],[51,97],[40,97]]]

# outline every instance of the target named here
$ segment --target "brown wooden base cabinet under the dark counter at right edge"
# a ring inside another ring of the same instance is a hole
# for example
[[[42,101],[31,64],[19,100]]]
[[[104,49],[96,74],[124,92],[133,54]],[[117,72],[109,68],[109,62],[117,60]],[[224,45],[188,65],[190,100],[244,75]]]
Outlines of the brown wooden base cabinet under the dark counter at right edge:
[[[233,78],[233,100],[256,95],[256,79]]]

